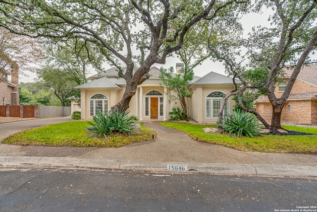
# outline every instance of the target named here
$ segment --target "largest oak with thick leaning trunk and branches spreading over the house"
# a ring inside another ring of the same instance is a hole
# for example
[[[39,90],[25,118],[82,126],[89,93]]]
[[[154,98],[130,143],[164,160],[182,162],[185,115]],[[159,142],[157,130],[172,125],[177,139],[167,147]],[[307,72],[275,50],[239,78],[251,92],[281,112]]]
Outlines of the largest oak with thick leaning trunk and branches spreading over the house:
[[[113,108],[127,110],[151,66],[164,64],[167,56],[178,51],[188,30],[209,15],[215,2],[0,0],[0,26],[31,37],[77,38],[95,44],[126,80],[123,97]]]

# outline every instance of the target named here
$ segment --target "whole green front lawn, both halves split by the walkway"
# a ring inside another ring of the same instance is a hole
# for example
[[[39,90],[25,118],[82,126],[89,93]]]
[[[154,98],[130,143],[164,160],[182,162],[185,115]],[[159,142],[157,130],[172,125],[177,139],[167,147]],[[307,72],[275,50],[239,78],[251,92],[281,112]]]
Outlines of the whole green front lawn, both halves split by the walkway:
[[[214,143],[247,151],[259,152],[294,152],[317,153],[317,136],[261,136],[254,139],[248,137],[236,138],[227,134],[205,134],[203,128],[216,126],[193,125],[177,122],[163,122],[162,126],[186,132],[194,140]],[[141,126],[140,132],[130,136],[115,136],[108,139],[90,138],[86,121],[71,121],[48,125],[17,133],[4,140],[3,143],[21,145],[48,146],[93,146],[120,147],[131,143],[152,140],[155,131]],[[317,134],[317,128],[283,126],[291,131]]]

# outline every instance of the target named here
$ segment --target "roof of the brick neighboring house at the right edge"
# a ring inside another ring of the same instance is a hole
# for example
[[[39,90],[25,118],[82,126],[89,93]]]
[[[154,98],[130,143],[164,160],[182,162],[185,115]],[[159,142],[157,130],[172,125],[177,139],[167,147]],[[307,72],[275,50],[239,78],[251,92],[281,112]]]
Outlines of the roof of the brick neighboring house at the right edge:
[[[287,77],[290,77],[293,73],[293,69],[285,69],[285,73]],[[317,65],[303,66],[297,79],[301,79],[317,86]]]

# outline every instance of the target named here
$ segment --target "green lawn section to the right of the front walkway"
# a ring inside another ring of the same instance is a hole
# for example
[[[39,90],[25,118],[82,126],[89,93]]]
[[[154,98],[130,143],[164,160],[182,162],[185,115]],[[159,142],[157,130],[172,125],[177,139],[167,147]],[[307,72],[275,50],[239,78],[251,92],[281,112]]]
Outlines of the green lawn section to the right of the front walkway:
[[[227,134],[205,134],[203,128],[216,126],[193,125],[187,123],[163,122],[162,126],[186,132],[191,138],[201,142],[219,144],[247,151],[317,153],[317,136],[261,136],[254,139],[236,138]],[[284,129],[317,134],[317,128],[283,126]]]

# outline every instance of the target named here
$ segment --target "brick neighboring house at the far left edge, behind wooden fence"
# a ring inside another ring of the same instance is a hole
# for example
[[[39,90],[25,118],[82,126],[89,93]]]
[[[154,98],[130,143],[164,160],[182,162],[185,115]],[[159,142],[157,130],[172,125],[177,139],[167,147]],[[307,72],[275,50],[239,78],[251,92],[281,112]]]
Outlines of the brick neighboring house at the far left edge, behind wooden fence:
[[[18,66],[12,63],[11,71],[0,72],[0,105],[19,105],[19,75]]]

